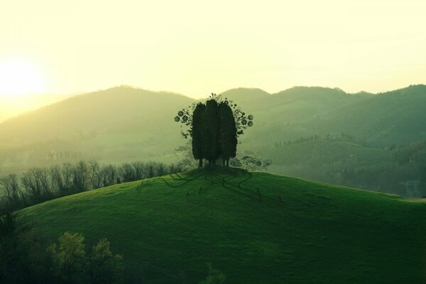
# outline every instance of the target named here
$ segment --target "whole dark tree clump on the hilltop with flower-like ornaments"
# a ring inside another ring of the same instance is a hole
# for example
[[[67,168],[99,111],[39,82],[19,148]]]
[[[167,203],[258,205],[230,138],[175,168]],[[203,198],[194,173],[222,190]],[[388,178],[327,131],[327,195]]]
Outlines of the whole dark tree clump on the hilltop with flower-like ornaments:
[[[192,111],[192,112],[191,112]],[[222,158],[223,165],[229,166],[229,159],[236,157],[238,136],[244,134],[244,129],[253,126],[253,115],[246,113],[225,98],[212,93],[207,102],[192,105],[192,109],[182,109],[175,116],[176,122],[190,126],[182,135],[192,138],[192,155],[199,160],[209,161],[215,165]]]

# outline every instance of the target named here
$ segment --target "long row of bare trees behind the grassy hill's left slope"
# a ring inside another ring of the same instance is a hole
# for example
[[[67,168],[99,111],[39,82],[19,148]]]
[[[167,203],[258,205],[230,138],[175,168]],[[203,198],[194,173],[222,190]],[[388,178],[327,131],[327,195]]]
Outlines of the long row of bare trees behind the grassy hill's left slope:
[[[84,160],[50,168],[32,168],[21,175],[0,178],[0,215],[77,192],[181,171],[181,165],[153,162],[100,165]]]

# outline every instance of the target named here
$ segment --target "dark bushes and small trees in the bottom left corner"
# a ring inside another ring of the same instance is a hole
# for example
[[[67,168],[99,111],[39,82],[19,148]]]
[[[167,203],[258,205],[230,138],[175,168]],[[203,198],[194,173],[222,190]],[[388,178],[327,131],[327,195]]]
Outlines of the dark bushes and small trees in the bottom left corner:
[[[16,215],[0,217],[0,283],[124,283],[123,257],[100,239],[86,250],[84,236],[66,232],[47,246]]]

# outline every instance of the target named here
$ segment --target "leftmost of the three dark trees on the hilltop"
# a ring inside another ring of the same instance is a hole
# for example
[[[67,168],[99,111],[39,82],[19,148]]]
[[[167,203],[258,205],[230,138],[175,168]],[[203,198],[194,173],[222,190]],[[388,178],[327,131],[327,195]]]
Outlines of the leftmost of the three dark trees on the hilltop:
[[[192,155],[194,155],[195,160],[199,160],[199,168],[202,168],[202,159],[204,158],[202,148],[203,148],[203,138],[202,138],[202,115],[204,113],[206,106],[201,102],[197,104],[194,112],[192,113]]]

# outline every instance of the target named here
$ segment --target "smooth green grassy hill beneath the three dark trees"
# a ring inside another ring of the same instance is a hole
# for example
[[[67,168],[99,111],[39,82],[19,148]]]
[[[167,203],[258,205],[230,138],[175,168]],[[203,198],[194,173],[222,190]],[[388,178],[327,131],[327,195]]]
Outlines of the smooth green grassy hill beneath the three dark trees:
[[[197,283],[209,261],[227,283],[426,280],[426,202],[252,175],[241,186],[261,190],[263,202],[222,187],[212,176],[178,187],[182,181],[167,176],[174,187],[161,179],[130,182],[22,214],[36,219],[36,229],[52,240],[64,231],[81,232],[88,244],[106,237],[146,283]],[[275,201],[278,195],[282,203]]]

